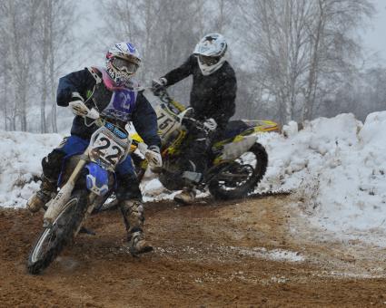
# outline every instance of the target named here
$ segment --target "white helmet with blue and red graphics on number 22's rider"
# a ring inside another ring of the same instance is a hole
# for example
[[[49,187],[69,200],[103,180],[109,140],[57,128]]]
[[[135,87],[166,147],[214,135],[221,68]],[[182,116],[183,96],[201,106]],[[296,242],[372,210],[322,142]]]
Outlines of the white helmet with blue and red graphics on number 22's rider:
[[[128,83],[141,63],[133,43],[115,43],[106,53],[106,71],[117,84]]]

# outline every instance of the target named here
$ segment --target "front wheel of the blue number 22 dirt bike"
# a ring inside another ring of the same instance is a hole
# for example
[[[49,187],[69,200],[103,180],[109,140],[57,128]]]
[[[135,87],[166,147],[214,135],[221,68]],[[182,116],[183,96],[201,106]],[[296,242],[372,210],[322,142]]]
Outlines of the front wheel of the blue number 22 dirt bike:
[[[64,245],[72,241],[84,219],[87,195],[85,190],[74,191],[52,226],[45,227],[37,238],[28,256],[27,268],[30,274],[43,271],[62,252]]]

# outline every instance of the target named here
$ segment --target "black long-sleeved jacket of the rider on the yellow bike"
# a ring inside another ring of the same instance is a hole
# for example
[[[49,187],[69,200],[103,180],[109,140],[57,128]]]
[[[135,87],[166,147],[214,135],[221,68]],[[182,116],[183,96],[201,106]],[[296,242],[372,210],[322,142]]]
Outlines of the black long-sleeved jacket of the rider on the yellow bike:
[[[218,129],[223,130],[235,110],[237,82],[232,66],[225,62],[220,69],[204,76],[197,57],[192,54],[183,65],[163,77],[167,80],[166,86],[170,86],[191,74],[193,87],[190,104],[194,109],[195,118],[213,118]]]

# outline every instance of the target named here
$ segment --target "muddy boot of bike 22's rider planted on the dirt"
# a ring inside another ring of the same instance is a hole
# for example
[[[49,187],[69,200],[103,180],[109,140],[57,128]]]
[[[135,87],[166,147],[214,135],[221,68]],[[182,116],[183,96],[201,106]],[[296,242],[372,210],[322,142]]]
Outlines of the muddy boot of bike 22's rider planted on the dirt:
[[[129,252],[136,256],[153,251],[144,239],[144,206],[139,200],[124,200],[119,203],[124,216]]]

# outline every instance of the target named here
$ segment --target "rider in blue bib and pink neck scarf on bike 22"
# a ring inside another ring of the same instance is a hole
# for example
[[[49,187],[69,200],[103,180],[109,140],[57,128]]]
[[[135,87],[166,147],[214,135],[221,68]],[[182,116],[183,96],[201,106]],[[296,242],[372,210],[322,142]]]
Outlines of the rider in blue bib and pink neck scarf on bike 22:
[[[146,159],[153,165],[162,164],[156,114],[133,78],[141,64],[137,49],[132,43],[115,43],[106,53],[105,63],[105,68],[84,68],[59,80],[57,104],[70,106],[75,117],[71,136],[64,138],[59,147],[42,160],[40,190],[27,202],[32,212],[38,211],[55,195],[64,157],[84,152],[91,135],[98,129],[95,124],[90,126],[90,120],[81,116],[84,104],[90,109],[93,107],[104,119],[121,128],[133,121],[135,130],[149,146]],[[115,196],[124,216],[129,250],[134,255],[150,252],[153,247],[144,239],[142,194],[130,157],[117,166],[116,178]]]

